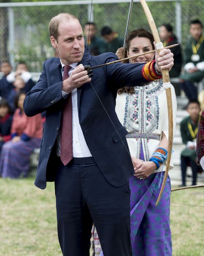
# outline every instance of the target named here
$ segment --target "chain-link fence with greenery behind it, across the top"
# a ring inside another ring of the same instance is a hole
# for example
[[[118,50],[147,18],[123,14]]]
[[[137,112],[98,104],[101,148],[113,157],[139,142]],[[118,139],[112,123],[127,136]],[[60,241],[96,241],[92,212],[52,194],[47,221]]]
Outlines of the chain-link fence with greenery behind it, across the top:
[[[100,31],[104,25],[111,26],[119,35],[125,34],[129,2],[91,0],[0,3],[0,61],[10,60],[13,67],[18,61],[25,61],[31,72],[40,72],[45,59],[54,56],[48,33],[48,23],[60,12],[69,12],[77,16],[82,26],[94,21]],[[107,3],[106,3],[107,2]],[[152,12],[156,26],[170,23],[184,47],[189,37],[189,21],[199,18],[204,22],[203,0],[157,0],[147,3]],[[24,5],[24,6],[23,6]],[[149,29],[144,11],[139,0],[133,3],[129,31],[132,29]]]

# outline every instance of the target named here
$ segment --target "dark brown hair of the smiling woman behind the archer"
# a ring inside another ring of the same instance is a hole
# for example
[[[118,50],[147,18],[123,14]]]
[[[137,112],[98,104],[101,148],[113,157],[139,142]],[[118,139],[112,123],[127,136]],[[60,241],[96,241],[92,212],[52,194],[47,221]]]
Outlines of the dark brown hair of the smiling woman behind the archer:
[[[153,50],[155,49],[153,35],[145,29],[135,29],[135,30],[131,31],[130,34],[125,39],[125,50],[123,51],[123,58],[127,58],[127,51],[130,48],[130,43],[136,37],[148,38],[151,42]],[[124,63],[128,63],[128,60],[124,61]],[[118,94],[121,94],[123,92],[133,94],[134,87],[122,87],[118,90]]]

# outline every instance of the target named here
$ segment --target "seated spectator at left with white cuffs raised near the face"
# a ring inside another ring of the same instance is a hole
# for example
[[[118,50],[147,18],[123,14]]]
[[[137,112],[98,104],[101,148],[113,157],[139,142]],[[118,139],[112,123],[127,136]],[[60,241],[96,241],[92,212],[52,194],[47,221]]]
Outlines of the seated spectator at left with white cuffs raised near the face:
[[[26,63],[19,62],[17,64],[16,71],[10,73],[6,77],[6,79],[7,79],[8,82],[14,83],[15,77],[18,76],[18,75],[20,75],[21,78],[23,79],[23,81],[25,83],[24,91],[25,91],[25,93],[27,93],[28,91],[30,91],[32,89],[32,87],[35,85],[35,83],[32,80],[31,73],[28,72],[28,67],[27,67]]]

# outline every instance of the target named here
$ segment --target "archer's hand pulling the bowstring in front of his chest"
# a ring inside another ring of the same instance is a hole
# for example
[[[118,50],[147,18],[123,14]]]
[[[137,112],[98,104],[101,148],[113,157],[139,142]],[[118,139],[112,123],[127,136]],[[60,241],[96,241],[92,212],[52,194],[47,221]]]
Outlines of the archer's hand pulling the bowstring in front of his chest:
[[[88,75],[88,71],[80,64],[71,72],[71,76],[63,81],[62,90],[66,93],[71,93],[75,88],[81,87],[88,82],[91,82],[91,74]]]

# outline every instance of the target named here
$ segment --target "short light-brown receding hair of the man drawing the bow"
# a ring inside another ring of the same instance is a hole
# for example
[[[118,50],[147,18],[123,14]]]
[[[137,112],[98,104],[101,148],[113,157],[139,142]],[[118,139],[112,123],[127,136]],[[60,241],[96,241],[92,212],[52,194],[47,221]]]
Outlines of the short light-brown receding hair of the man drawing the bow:
[[[59,31],[58,31],[59,22],[61,20],[70,20],[70,19],[78,20],[77,17],[75,17],[74,15],[72,15],[70,13],[60,13],[57,16],[54,16],[51,19],[50,23],[49,23],[50,36],[53,36],[56,40],[58,40],[58,37],[59,37]]]

